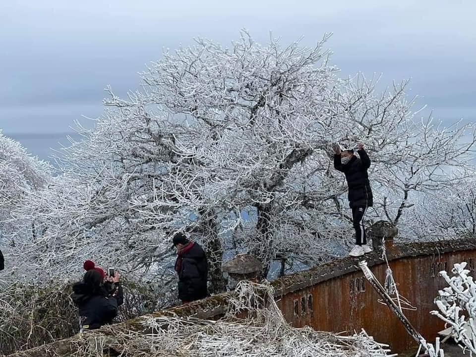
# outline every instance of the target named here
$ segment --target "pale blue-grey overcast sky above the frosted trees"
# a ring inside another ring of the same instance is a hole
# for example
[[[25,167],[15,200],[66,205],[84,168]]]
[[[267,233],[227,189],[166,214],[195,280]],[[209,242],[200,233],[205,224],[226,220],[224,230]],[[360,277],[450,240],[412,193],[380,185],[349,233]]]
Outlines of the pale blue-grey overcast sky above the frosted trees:
[[[98,117],[103,89],[139,85],[163,48],[195,36],[222,44],[246,28],[288,44],[328,47],[342,75],[412,78],[411,94],[446,123],[476,121],[475,0],[9,0],[0,3],[0,128],[5,134],[70,131]]]

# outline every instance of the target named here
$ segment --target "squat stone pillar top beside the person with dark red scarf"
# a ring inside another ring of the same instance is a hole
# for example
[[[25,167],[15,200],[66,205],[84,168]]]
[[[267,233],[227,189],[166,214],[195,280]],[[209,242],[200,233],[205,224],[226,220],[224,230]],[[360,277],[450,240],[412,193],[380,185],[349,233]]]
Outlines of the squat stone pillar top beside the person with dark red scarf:
[[[251,254],[238,254],[222,265],[222,271],[228,273],[228,288],[233,290],[241,280],[257,281],[261,272],[261,262]]]

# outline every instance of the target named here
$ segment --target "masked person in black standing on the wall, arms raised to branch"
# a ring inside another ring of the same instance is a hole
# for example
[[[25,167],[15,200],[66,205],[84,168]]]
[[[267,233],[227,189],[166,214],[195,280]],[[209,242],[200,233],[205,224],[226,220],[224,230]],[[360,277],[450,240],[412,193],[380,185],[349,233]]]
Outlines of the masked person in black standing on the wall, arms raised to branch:
[[[346,175],[349,186],[349,206],[352,209],[352,220],[356,231],[356,245],[349,253],[351,256],[361,256],[372,251],[367,244],[363,224],[367,208],[373,205],[372,189],[367,174],[370,159],[362,143],[357,145],[357,153],[359,157],[354,155],[352,149],[341,151],[339,146],[334,148],[334,168]]]

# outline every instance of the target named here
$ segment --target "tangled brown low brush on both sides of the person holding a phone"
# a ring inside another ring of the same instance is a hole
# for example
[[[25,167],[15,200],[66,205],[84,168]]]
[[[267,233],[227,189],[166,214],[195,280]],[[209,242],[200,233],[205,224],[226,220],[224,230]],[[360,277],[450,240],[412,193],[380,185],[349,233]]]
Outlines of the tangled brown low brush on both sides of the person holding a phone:
[[[3,273],[3,272],[2,272]],[[74,277],[70,277],[74,279]],[[72,280],[36,284],[11,282],[0,289],[0,356],[71,337],[79,332]],[[169,306],[160,289],[122,280],[124,303],[115,321],[128,320]]]

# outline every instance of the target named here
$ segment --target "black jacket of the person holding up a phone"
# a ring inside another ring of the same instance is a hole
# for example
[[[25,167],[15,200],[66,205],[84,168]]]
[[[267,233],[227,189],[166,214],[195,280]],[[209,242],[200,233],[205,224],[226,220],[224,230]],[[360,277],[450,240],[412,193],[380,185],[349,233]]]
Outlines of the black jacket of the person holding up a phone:
[[[118,315],[118,307],[123,301],[122,288],[119,286],[117,297],[109,295],[112,293],[109,289],[102,287],[96,294],[91,294],[84,283],[79,282],[73,285],[71,298],[79,307],[83,330],[94,330],[110,324]]]

